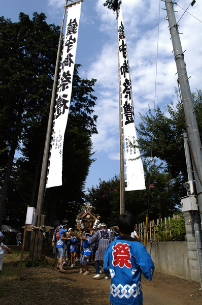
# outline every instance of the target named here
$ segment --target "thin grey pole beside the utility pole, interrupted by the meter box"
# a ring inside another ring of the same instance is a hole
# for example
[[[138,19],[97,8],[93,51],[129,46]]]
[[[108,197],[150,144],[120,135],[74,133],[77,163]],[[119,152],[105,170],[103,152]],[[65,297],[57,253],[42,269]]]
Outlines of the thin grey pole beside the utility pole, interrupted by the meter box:
[[[192,174],[192,166],[191,166],[191,158],[189,153],[189,143],[187,140],[187,133],[183,133],[184,137],[184,151],[186,157],[186,164],[187,164],[187,174],[188,180],[193,181],[193,174]],[[191,212],[191,211],[190,211]],[[200,226],[198,222],[198,211],[193,211],[193,225],[195,231],[195,238],[196,238],[196,248],[198,251],[198,262],[199,262],[199,269],[200,269],[200,286],[202,287],[202,247],[201,247],[201,240],[200,240]]]

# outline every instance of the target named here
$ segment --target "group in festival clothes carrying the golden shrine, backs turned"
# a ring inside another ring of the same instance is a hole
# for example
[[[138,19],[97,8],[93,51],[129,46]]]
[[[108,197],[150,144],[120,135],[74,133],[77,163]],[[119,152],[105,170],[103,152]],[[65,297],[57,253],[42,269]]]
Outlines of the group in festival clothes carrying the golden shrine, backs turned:
[[[52,247],[53,254],[56,252],[57,255],[56,269],[65,273],[66,271],[63,268],[65,263],[71,268],[75,268],[76,262],[78,262],[80,263],[79,272],[83,275],[89,275],[87,264],[95,264],[96,275],[94,278],[99,278],[99,273],[103,272],[105,250],[115,237],[105,223],[100,225],[99,230],[93,231],[93,235],[89,229],[85,230],[84,236],[81,238],[75,233],[79,233],[79,230],[68,229],[67,220],[63,220],[61,225],[55,229],[52,237]],[[83,272],[83,270],[85,271]],[[106,279],[108,279],[108,273],[106,273]]]

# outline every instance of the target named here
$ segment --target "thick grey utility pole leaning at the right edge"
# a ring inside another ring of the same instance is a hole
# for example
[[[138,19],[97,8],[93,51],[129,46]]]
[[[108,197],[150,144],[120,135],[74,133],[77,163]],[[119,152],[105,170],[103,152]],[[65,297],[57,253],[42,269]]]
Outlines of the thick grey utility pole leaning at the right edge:
[[[198,205],[200,211],[201,228],[202,228],[202,147],[196,116],[193,107],[191,90],[189,86],[186,66],[184,62],[184,54],[180,42],[178,24],[176,22],[175,13],[173,9],[174,3],[171,0],[165,0],[165,7],[167,10],[167,17],[169,19],[170,33],[173,43],[175,61],[178,71],[178,79],[180,84],[181,96],[183,101],[183,108],[185,113],[186,128],[190,142],[191,157],[193,160],[193,170],[196,184],[196,191],[198,197]]]

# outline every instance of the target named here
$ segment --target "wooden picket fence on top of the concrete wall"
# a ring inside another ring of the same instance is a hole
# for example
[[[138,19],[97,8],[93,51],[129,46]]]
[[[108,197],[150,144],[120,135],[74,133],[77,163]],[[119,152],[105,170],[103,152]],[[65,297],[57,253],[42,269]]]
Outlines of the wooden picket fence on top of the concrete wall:
[[[173,218],[179,218],[179,215],[174,215]],[[167,230],[167,224],[170,223],[171,218],[169,217],[164,218],[165,221],[165,230]],[[162,224],[163,220],[162,218],[157,219],[156,223],[154,220],[151,220],[148,223],[148,230],[147,230],[147,241],[156,241],[156,230],[155,230],[155,226],[157,226],[159,223]],[[136,232],[139,235],[141,241],[144,241],[145,239],[145,222],[141,223],[141,224],[136,224]]]

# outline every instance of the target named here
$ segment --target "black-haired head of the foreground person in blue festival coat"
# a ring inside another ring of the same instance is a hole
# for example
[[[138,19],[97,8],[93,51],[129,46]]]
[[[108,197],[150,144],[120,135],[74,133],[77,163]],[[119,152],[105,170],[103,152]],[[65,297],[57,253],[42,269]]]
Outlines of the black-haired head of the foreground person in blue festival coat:
[[[131,234],[134,231],[135,224],[134,217],[129,213],[123,213],[117,219],[117,229],[122,234]]]

